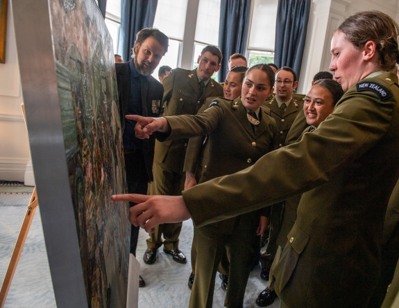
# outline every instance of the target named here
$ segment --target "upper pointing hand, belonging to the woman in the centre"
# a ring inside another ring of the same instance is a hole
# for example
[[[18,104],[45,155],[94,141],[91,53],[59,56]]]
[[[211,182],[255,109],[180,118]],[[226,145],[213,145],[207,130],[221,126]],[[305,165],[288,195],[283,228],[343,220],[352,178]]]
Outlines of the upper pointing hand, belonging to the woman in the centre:
[[[144,116],[128,115],[128,120],[136,121],[135,135],[137,138],[150,138],[153,132],[168,133],[171,130],[166,118],[146,118]]]

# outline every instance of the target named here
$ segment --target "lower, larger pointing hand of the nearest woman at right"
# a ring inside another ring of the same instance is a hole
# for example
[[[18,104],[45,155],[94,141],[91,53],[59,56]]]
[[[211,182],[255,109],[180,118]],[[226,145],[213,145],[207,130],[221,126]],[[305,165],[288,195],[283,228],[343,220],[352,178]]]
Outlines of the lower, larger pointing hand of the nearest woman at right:
[[[145,194],[114,194],[114,201],[137,203],[130,208],[129,220],[134,226],[154,232],[158,224],[180,222],[190,218],[182,196],[146,196]]]

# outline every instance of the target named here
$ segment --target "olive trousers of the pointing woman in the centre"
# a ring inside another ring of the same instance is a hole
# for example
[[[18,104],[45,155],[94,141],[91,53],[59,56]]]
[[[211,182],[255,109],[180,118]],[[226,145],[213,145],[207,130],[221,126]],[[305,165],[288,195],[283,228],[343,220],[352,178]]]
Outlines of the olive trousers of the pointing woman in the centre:
[[[242,307],[253,255],[259,245],[259,238],[255,236],[257,227],[255,224],[236,224],[230,234],[219,233],[215,226],[194,228],[197,255],[190,308],[212,307],[215,277],[224,251],[227,252],[230,264],[236,264],[230,266],[228,272],[229,281],[224,305]]]

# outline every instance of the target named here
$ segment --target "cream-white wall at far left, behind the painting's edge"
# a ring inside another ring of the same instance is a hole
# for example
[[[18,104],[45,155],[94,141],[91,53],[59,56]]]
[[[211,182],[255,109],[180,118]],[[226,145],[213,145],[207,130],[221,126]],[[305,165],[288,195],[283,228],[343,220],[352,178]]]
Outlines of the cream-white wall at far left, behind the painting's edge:
[[[30,160],[11,3],[8,4],[6,63],[0,64],[0,180],[24,181]]]

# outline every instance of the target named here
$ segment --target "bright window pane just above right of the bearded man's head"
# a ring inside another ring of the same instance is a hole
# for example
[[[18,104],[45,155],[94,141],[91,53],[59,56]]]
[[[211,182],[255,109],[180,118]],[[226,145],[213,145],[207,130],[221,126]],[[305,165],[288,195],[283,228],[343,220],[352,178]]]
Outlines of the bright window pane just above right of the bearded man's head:
[[[183,39],[187,0],[158,0],[154,27],[160,29],[169,38]]]

